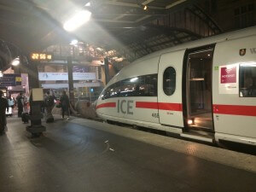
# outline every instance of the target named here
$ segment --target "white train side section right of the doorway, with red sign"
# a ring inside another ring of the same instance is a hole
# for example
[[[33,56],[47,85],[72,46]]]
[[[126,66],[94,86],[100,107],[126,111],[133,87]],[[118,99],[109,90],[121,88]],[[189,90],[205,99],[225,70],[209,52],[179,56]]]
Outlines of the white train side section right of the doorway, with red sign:
[[[213,117],[216,135],[256,138],[256,36],[218,43],[213,61]],[[225,90],[224,90],[225,87]],[[235,91],[234,91],[235,90]]]

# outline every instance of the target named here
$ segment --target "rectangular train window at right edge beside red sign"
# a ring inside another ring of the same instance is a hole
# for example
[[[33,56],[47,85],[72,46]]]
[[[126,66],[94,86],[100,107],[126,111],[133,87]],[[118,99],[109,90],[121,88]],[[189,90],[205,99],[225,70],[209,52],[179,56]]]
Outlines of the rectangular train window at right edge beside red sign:
[[[256,97],[256,63],[240,65],[239,96]]]

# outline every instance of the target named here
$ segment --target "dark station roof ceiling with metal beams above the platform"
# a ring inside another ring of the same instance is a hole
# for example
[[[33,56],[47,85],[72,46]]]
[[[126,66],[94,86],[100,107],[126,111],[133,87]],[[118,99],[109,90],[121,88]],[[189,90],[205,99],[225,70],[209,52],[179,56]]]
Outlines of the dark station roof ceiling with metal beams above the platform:
[[[90,7],[85,7],[89,2]],[[117,49],[119,55],[134,61],[158,49],[222,32],[198,6],[199,2],[201,0],[1,0],[0,39],[28,54],[78,38],[106,50]],[[65,20],[82,8],[90,9],[90,22],[74,33],[64,31]]]

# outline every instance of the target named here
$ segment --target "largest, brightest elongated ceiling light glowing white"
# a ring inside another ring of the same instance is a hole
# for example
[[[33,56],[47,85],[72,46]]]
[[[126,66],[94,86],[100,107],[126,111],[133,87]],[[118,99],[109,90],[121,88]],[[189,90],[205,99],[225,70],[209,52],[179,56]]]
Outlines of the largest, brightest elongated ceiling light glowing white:
[[[70,20],[67,20],[64,23],[63,28],[67,32],[73,32],[80,26],[83,26],[84,23],[88,22],[90,20],[90,15],[91,15],[90,11],[81,10],[78,13],[76,13],[75,15],[73,15],[73,17]]]

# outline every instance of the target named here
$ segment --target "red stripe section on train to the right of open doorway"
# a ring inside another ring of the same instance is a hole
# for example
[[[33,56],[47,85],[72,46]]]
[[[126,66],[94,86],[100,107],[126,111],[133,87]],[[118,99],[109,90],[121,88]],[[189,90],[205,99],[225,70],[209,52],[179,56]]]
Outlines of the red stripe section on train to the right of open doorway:
[[[213,113],[256,116],[256,106],[213,105]]]

